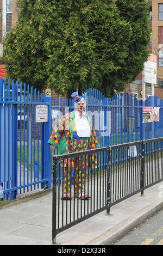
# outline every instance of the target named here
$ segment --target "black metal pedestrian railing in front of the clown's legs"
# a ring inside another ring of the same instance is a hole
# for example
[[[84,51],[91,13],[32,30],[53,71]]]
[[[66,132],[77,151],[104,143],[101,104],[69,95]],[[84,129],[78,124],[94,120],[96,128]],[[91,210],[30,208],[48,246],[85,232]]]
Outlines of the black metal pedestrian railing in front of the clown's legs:
[[[112,205],[160,182],[162,154],[158,138],[53,156],[52,242],[61,231],[105,209],[109,214]]]

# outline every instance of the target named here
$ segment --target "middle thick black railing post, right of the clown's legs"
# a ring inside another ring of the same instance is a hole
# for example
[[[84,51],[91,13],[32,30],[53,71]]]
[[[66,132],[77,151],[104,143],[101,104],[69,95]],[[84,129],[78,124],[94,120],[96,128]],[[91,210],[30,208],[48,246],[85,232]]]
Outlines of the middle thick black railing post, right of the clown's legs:
[[[111,147],[108,147],[108,171],[107,171],[107,208],[106,213],[110,214],[110,204],[111,204],[111,196],[110,196],[110,177],[111,177]]]

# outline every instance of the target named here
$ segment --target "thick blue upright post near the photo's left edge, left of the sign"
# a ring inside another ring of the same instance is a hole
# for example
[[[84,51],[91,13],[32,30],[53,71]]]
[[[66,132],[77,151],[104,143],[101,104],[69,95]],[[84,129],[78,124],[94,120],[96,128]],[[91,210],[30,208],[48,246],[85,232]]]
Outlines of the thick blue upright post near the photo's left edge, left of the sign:
[[[12,101],[18,100],[18,86],[12,80]],[[12,104],[12,176],[11,188],[17,186],[17,104]],[[11,200],[16,198],[17,191],[11,191]]]

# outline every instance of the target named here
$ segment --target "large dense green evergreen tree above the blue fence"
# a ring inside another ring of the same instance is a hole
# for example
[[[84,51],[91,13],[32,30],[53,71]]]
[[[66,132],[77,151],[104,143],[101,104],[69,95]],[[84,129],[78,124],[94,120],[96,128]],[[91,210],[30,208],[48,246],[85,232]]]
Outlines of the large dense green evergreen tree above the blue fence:
[[[151,31],[146,0],[19,0],[4,42],[8,77],[62,95],[122,91],[143,69]]]

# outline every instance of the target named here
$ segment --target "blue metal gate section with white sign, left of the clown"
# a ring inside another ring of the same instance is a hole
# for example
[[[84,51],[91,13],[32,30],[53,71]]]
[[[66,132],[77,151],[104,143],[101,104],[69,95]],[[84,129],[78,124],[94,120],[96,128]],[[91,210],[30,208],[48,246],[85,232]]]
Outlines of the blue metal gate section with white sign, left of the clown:
[[[25,83],[0,79],[0,200],[12,200],[51,187],[52,100]]]

